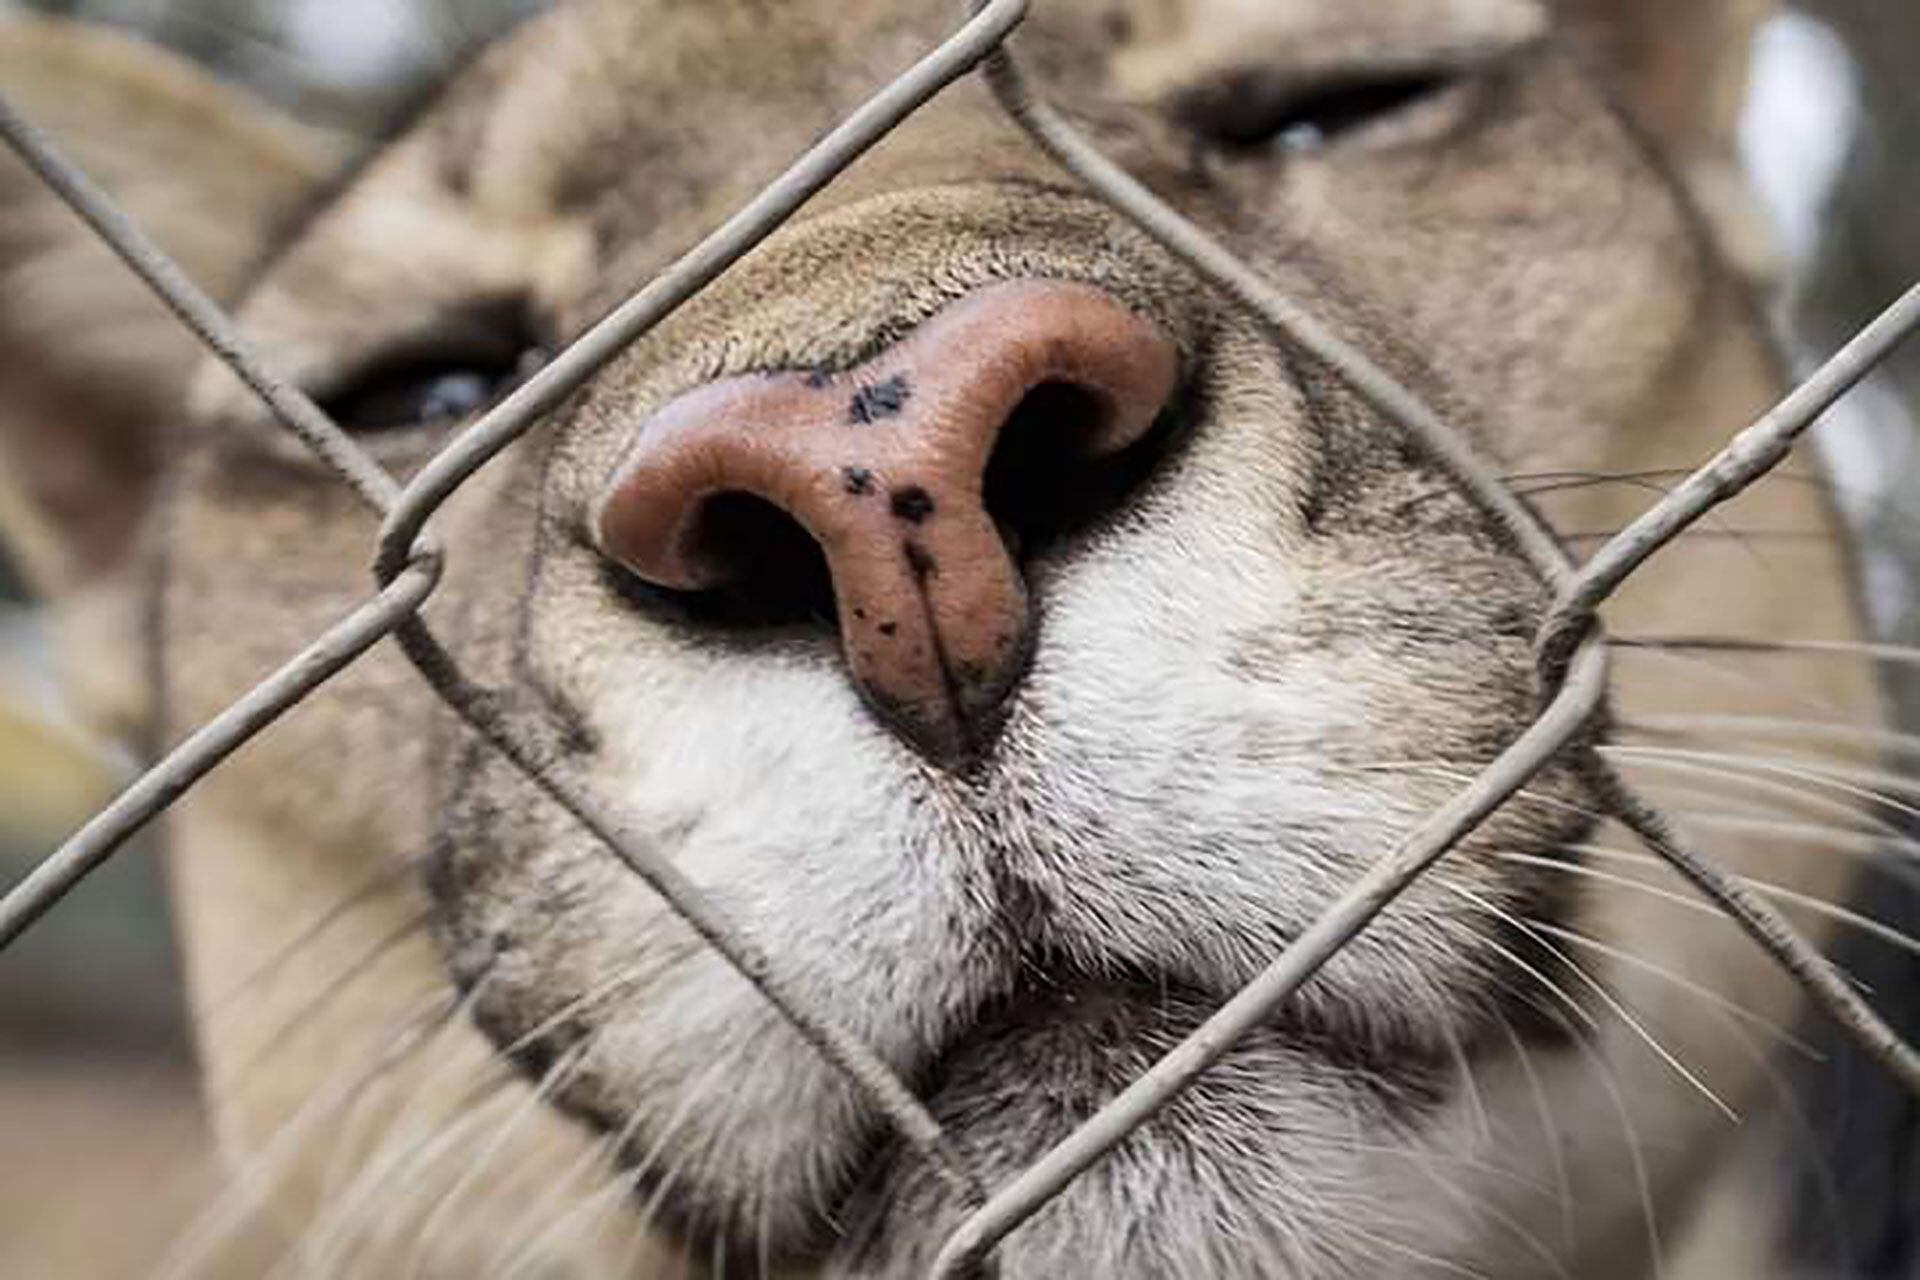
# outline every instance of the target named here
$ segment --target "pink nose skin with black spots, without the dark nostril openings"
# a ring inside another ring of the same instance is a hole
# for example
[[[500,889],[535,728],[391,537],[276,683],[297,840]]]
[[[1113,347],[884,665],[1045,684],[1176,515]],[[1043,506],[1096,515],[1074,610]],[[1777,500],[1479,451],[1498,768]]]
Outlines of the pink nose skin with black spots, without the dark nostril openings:
[[[662,407],[614,474],[601,551],[710,589],[739,572],[705,528],[712,499],[770,503],[826,557],[868,702],[922,754],[964,760],[1029,654],[1025,581],[983,497],[1002,428],[1112,455],[1148,432],[1177,368],[1173,342],[1100,290],[991,286],[849,372],[728,378]]]

